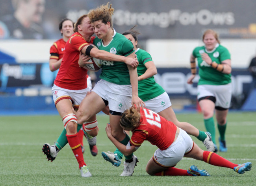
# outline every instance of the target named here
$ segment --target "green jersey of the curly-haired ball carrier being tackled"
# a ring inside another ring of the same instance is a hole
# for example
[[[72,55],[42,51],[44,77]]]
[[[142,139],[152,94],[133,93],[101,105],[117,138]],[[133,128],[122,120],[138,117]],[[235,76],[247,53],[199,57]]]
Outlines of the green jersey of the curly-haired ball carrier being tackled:
[[[115,32],[112,41],[106,46],[103,45],[102,40],[96,37],[93,44],[100,50],[105,50],[117,55],[128,56],[134,52],[134,46],[124,35]],[[117,61],[101,60],[101,74],[100,78],[118,85],[130,85],[130,74],[125,63]]]

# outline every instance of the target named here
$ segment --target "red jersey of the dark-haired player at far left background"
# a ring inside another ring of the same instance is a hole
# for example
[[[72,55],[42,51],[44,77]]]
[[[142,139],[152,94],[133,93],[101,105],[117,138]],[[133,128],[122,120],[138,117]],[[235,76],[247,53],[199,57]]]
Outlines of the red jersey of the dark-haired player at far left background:
[[[63,57],[66,41],[59,39],[55,41],[50,48],[50,59],[59,60]]]

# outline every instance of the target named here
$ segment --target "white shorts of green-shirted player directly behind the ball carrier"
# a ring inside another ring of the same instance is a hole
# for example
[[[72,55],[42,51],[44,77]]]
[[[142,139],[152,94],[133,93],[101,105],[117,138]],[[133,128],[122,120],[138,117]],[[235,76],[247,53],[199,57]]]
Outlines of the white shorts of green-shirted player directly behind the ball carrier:
[[[166,92],[163,92],[163,94],[157,96],[156,98],[149,99],[148,101],[144,102],[147,109],[150,109],[156,113],[161,112],[172,106],[170,98]]]

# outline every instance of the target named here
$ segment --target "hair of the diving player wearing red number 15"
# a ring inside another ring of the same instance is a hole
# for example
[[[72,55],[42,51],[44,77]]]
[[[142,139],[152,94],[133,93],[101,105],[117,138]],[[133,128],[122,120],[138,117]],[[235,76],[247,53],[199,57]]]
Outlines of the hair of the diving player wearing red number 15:
[[[135,109],[131,107],[130,109],[126,109],[120,118],[120,124],[124,128],[135,128],[140,125],[141,114]]]

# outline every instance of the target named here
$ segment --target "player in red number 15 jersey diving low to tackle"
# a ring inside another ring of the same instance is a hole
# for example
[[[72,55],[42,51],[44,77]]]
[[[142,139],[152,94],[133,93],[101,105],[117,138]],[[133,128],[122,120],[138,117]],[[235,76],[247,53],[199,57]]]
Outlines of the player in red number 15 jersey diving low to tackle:
[[[158,149],[148,161],[146,171],[156,176],[210,176],[206,170],[199,170],[193,165],[188,170],[174,168],[183,157],[194,158],[208,164],[234,169],[239,174],[250,171],[251,162],[234,164],[210,151],[203,151],[193,142],[186,131],[180,129],[173,122],[153,112],[141,108],[140,112],[134,107],[127,109],[120,119],[124,130],[132,131],[130,142],[121,144],[111,134],[111,126],[107,124],[108,138],[120,149],[124,155],[130,155],[147,140]]]

